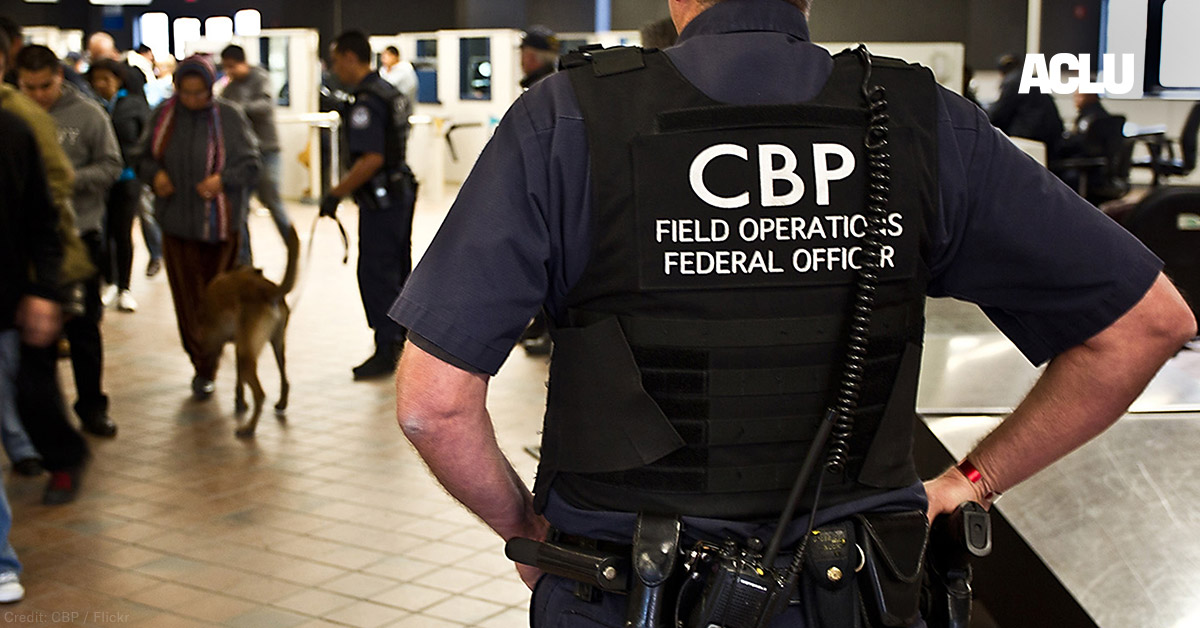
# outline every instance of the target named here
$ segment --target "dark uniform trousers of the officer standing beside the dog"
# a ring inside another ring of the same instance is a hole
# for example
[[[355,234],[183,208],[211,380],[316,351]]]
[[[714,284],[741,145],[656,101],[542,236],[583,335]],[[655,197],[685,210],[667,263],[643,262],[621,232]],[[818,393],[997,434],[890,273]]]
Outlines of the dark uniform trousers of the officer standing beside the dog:
[[[377,348],[402,342],[406,334],[404,328],[388,317],[413,269],[412,186],[403,184],[401,196],[392,198],[388,209],[359,203],[359,292]]]

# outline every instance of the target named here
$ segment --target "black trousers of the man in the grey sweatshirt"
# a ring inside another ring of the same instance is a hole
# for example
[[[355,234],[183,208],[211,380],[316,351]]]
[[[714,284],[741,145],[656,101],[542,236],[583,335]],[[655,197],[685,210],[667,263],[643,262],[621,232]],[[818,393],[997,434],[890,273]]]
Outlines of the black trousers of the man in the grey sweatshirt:
[[[100,232],[90,231],[79,237],[96,268],[104,268]],[[62,330],[71,343],[71,367],[74,370],[76,413],[89,418],[108,409],[101,379],[104,370],[104,347],[100,337],[100,319],[104,306],[100,303],[100,275],[84,282],[84,315],[70,318]]]

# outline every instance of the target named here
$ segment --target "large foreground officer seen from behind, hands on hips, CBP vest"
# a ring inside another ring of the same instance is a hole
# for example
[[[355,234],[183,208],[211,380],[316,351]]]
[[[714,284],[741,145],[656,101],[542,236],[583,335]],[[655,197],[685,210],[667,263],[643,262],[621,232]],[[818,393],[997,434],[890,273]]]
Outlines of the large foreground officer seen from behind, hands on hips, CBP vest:
[[[688,542],[766,539],[840,403],[847,303],[869,258],[860,395],[817,526],[916,512],[923,539],[923,515],[988,504],[1099,433],[1195,334],[1153,255],[926,70],[830,58],[809,41],[808,0],[668,6],[676,47],[572,55],[518,98],[391,310],[410,330],[401,427],[504,539],[553,526],[628,546],[640,512],[682,515]],[[926,294],[982,304],[1049,366],[923,484],[908,449]],[[530,492],[485,401],[539,307],[556,348]],[[541,576],[534,626],[624,624],[623,596],[517,569],[530,587]],[[790,606],[770,626],[857,621],[827,608]]]

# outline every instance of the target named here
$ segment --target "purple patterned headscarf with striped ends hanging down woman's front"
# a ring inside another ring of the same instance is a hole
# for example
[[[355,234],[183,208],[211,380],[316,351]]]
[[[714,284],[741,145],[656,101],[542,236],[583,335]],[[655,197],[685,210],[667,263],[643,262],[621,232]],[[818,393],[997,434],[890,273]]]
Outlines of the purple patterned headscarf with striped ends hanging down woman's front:
[[[154,136],[151,137],[150,151],[154,159],[162,161],[170,143],[170,134],[175,130],[175,112],[179,107],[179,85],[190,76],[198,76],[204,80],[204,86],[209,90],[209,140],[205,148],[204,175],[205,178],[220,174],[226,165],[224,134],[221,132],[221,108],[212,98],[212,83],[216,80],[216,67],[206,56],[192,55],[179,62],[175,68],[175,95],[163,103],[158,112],[158,118],[154,121]],[[176,193],[187,193],[178,190]],[[204,203],[204,239],[206,241],[224,241],[229,239],[230,221],[229,199],[222,190],[215,198]]]

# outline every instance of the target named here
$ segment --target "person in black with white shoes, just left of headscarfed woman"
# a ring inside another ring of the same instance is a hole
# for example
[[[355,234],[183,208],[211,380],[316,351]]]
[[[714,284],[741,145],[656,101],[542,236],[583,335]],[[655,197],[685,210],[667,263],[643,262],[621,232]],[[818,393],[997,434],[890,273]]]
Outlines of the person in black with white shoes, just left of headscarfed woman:
[[[115,294],[106,294],[106,303],[115,298],[116,309],[122,312],[138,307],[130,293],[130,276],[133,269],[133,217],[142,205],[143,184],[133,166],[138,139],[150,119],[150,106],[137,86],[131,89],[126,76],[128,71],[127,65],[113,59],[100,59],[88,68],[88,83],[113,119],[125,162],[120,179],[108,190],[108,213],[104,216],[104,241],[112,265],[104,270],[112,282],[110,289],[115,291]]]

